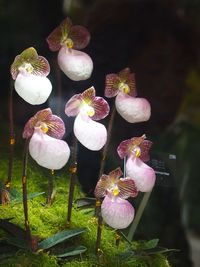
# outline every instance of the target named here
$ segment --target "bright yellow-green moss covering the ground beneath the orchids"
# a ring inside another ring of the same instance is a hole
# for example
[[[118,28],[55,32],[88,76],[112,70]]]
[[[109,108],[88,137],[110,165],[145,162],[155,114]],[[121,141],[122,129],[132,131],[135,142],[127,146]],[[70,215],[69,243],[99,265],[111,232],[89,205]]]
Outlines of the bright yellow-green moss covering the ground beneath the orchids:
[[[21,148],[21,145],[19,145]],[[17,149],[19,151],[19,148]],[[0,179],[2,182],[7,176],[7,161],[8,155],[6,149],[2,149],[0,155]],[[21,192],[21,170],[22,159],[20,153],[15,154],[13,182],[12,187]],[[69,174],[68,166],[62,171],[55,172],[55,200],[51,206],[46,205],[48,175],[50,171],[44,170],[37,166],[33,160],[28,163],[28,192],[45,192],[34,199],[28,201],[29,218],[31,232],[39,239],[47,238],[52,234],[69,228],[67,225],[67,201],[69,191]],[[76,186],[74,199],[82,196],[79,186]],[[24,215],[22,202],[13,202],[9,205],[0,206],[0,218],[13,218],[12,222],[24,227]],[[115,232],[103,226],[102,232],[102,255],[97,260],[94,250],[96,241],[97,224],[92,213],[87,213],[86,210],[78,210],[75,206],[72,212],[72,222],[70,228],[85,227],[87,231],[79,237],[70,241],[78,245],[87,247],[87,251],[76,257],[58,259],[45,252],[31,253],[26,250],[19,250],[12,257],[7,257],[0,260],[0,267],[94,267],[94,266],[120,266],[120,267],[169,267],[166,257],[162,254],[154,254],[151,256],[140,256],[132,258],[130,262],[122,262],[117,254],[123,252],[127,243],[122,240],[119,247],[115,245]],[[5,232],[0,231],[0,237],[4,236]]]

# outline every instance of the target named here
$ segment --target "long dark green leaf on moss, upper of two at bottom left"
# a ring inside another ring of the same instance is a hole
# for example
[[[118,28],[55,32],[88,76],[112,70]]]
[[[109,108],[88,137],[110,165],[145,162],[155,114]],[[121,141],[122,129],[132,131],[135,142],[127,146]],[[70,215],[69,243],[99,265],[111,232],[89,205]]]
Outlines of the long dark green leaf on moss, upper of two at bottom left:
[[[55,235],[50,236],[47,239],[44,239],[38,244],[39,249],[48,249],[50,247],[55,246],[58,243],[61,243],[71,237],[80,235],[86,231],[85,228],[79,228],[79,229],[72,229],[72,230],[66,230],[59,233],[56,233]]]

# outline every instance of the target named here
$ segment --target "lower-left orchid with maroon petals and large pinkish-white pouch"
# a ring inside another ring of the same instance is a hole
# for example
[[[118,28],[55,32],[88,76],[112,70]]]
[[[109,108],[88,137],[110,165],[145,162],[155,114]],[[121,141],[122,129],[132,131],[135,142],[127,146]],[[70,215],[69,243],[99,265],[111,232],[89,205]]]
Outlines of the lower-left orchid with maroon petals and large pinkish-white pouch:
[[[64,134],[62,119],[46,108],[29,119],[24,127],[23,138],[30,138],[29,153],[40,166],[57,170],[67,163],[70,156],[68,144],[60,140]]]

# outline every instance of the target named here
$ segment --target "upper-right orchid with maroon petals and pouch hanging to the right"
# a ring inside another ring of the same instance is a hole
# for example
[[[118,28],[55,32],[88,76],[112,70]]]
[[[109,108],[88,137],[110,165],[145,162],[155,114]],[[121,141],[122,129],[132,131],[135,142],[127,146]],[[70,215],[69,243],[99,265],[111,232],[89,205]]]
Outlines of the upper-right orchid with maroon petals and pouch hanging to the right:
[[[147,121],[151,107],[145,98],[136,97],[135,75],[125,68],[118,74],[106,75],[106,97],[115,97],[117,112],[128,122]]]

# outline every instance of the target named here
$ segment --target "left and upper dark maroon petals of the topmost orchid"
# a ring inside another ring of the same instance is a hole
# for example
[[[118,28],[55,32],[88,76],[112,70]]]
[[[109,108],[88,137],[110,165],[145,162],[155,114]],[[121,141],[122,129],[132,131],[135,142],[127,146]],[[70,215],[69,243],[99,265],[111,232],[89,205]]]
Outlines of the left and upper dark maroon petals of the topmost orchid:
[[[49,34],[46,40],[51,51],[58,51],[62,47],[64,41],[66,41],[68,37],[71,27],[71,20],[66,18]]]

